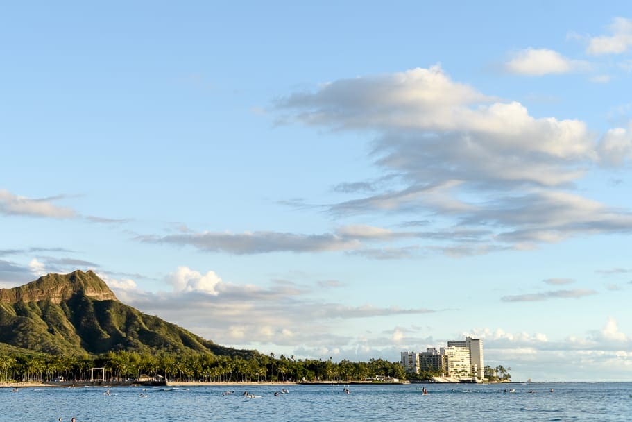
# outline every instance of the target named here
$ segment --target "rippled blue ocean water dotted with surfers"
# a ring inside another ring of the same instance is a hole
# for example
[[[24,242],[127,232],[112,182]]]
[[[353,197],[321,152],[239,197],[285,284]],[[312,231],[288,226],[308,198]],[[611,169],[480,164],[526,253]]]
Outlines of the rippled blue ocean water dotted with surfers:
[[[274,396],[281,388],[289,393]],[[234,394],[222,396],[226,390]],[[244,390],[258,397],[244,397]],[[0,389],[0,422],[69,422],[72,416],[77,422],[632,421],[631,382],[112,387],[109,396],[105,391]]]

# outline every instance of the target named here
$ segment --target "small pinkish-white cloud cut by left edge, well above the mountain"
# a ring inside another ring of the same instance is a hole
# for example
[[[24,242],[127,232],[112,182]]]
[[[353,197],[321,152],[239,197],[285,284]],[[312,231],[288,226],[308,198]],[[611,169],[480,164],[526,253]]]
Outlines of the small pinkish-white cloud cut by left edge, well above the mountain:
[[[12,194],[6,189],[0,189],[0,214],[50,217],[54,219],[76,217],[76,213],[71,208],[54,205],[52,201],[55,199],[59,199],[59,197],[31,199],[26,196]]]

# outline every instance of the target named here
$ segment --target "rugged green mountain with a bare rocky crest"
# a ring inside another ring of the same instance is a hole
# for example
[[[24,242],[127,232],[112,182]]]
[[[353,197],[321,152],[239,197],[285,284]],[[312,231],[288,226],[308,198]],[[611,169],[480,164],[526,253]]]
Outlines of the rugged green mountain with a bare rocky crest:
[[[108,351],[251,357],[121,303],[93,271],[48,274],[0,289],[0,350],[51,354]]]

